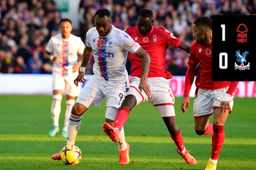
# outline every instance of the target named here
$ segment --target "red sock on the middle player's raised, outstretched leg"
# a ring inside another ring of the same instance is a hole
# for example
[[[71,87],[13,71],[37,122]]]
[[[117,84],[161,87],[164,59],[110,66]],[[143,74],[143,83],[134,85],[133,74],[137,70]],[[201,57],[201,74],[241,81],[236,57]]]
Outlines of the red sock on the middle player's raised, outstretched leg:
[[[127,108],[122,107],[121,109],[119,109],[118,115],[114,119],[114,128],[118,128],[119,131],[121,131],[121,128],[126,123],[129,114],[130,111]]]

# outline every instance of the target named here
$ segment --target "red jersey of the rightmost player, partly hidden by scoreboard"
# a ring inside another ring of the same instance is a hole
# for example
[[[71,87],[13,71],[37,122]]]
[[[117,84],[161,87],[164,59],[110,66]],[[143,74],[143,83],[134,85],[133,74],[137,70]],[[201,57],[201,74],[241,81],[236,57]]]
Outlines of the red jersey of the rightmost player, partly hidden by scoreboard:
[[[198,76],[195,85],[200,89],[222,89],[230,86],[230,81],[212,81],[212,44],[199,44],[194,41],[190,49],[189,69],[186,71],[184,97],[189,97],[194,80],[194,70],[199,63]],[[192,70],[192,71],[191,71]]]

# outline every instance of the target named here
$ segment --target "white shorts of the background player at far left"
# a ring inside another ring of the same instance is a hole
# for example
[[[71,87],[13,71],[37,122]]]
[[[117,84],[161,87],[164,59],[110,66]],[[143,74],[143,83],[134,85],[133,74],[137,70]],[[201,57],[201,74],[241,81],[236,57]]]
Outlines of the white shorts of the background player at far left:
[[[62,89],[67,95],[77,97],[80,88],[74,85],[74,79],[78,76],[78,72],[69,74],[68,77],[62,77],[59,73],[53,72],[53,90]]]

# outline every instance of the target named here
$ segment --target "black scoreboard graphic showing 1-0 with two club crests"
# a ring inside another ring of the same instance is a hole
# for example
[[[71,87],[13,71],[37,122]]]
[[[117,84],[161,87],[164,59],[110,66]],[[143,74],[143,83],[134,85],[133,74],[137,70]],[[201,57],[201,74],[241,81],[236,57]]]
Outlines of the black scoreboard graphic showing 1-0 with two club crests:
[[[213,81],[256,81],[256,16],[214,15]]]

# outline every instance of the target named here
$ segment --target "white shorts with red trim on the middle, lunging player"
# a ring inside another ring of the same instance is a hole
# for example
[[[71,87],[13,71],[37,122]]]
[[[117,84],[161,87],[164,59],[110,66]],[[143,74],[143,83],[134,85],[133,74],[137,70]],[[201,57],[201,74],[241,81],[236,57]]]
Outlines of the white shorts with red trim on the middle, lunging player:
[[[134,95],[137,99],[137,104],[145,101],[150,101],[155,107],[163,107],[164,109],[158,109],[162,117],[173,117],[174,112],[174,94],[170,89],[170,81],[163,77],[149,77],[147,82],[150,85],[151,98],[146,96],[146,93],[142,93],[138,89],[140,78],[130,78],[130,94]]]

